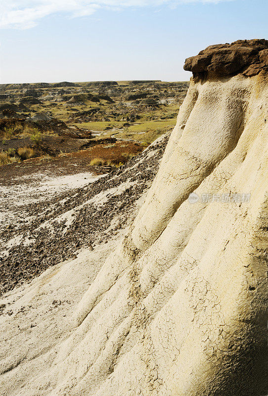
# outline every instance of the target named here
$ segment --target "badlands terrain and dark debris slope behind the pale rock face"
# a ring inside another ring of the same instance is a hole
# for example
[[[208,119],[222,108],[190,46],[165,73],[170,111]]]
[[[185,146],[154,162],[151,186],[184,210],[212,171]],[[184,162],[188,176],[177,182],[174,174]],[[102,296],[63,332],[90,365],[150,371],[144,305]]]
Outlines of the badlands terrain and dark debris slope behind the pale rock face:
[[[0,86],[1,293],[126,224],[158,170],[188,86]]]

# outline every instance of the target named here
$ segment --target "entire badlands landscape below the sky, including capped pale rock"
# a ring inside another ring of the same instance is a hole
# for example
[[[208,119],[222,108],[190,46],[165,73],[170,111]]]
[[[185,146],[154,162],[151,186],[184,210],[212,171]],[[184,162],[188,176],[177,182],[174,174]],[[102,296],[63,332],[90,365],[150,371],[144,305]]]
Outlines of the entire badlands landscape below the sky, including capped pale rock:
[[[268,41],[184,69],[1,87],[1,396],[268,395]]]

